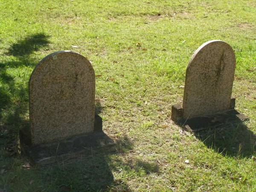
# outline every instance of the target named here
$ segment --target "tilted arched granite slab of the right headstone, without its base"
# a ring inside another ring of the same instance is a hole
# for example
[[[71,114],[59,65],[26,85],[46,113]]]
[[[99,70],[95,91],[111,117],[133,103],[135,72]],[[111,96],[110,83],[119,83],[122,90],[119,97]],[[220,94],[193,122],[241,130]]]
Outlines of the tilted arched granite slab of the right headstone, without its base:
[[[208,41],[192,55],[186,69],[183,117],[211,115],[230,108],[236,57],[224,41]]]

